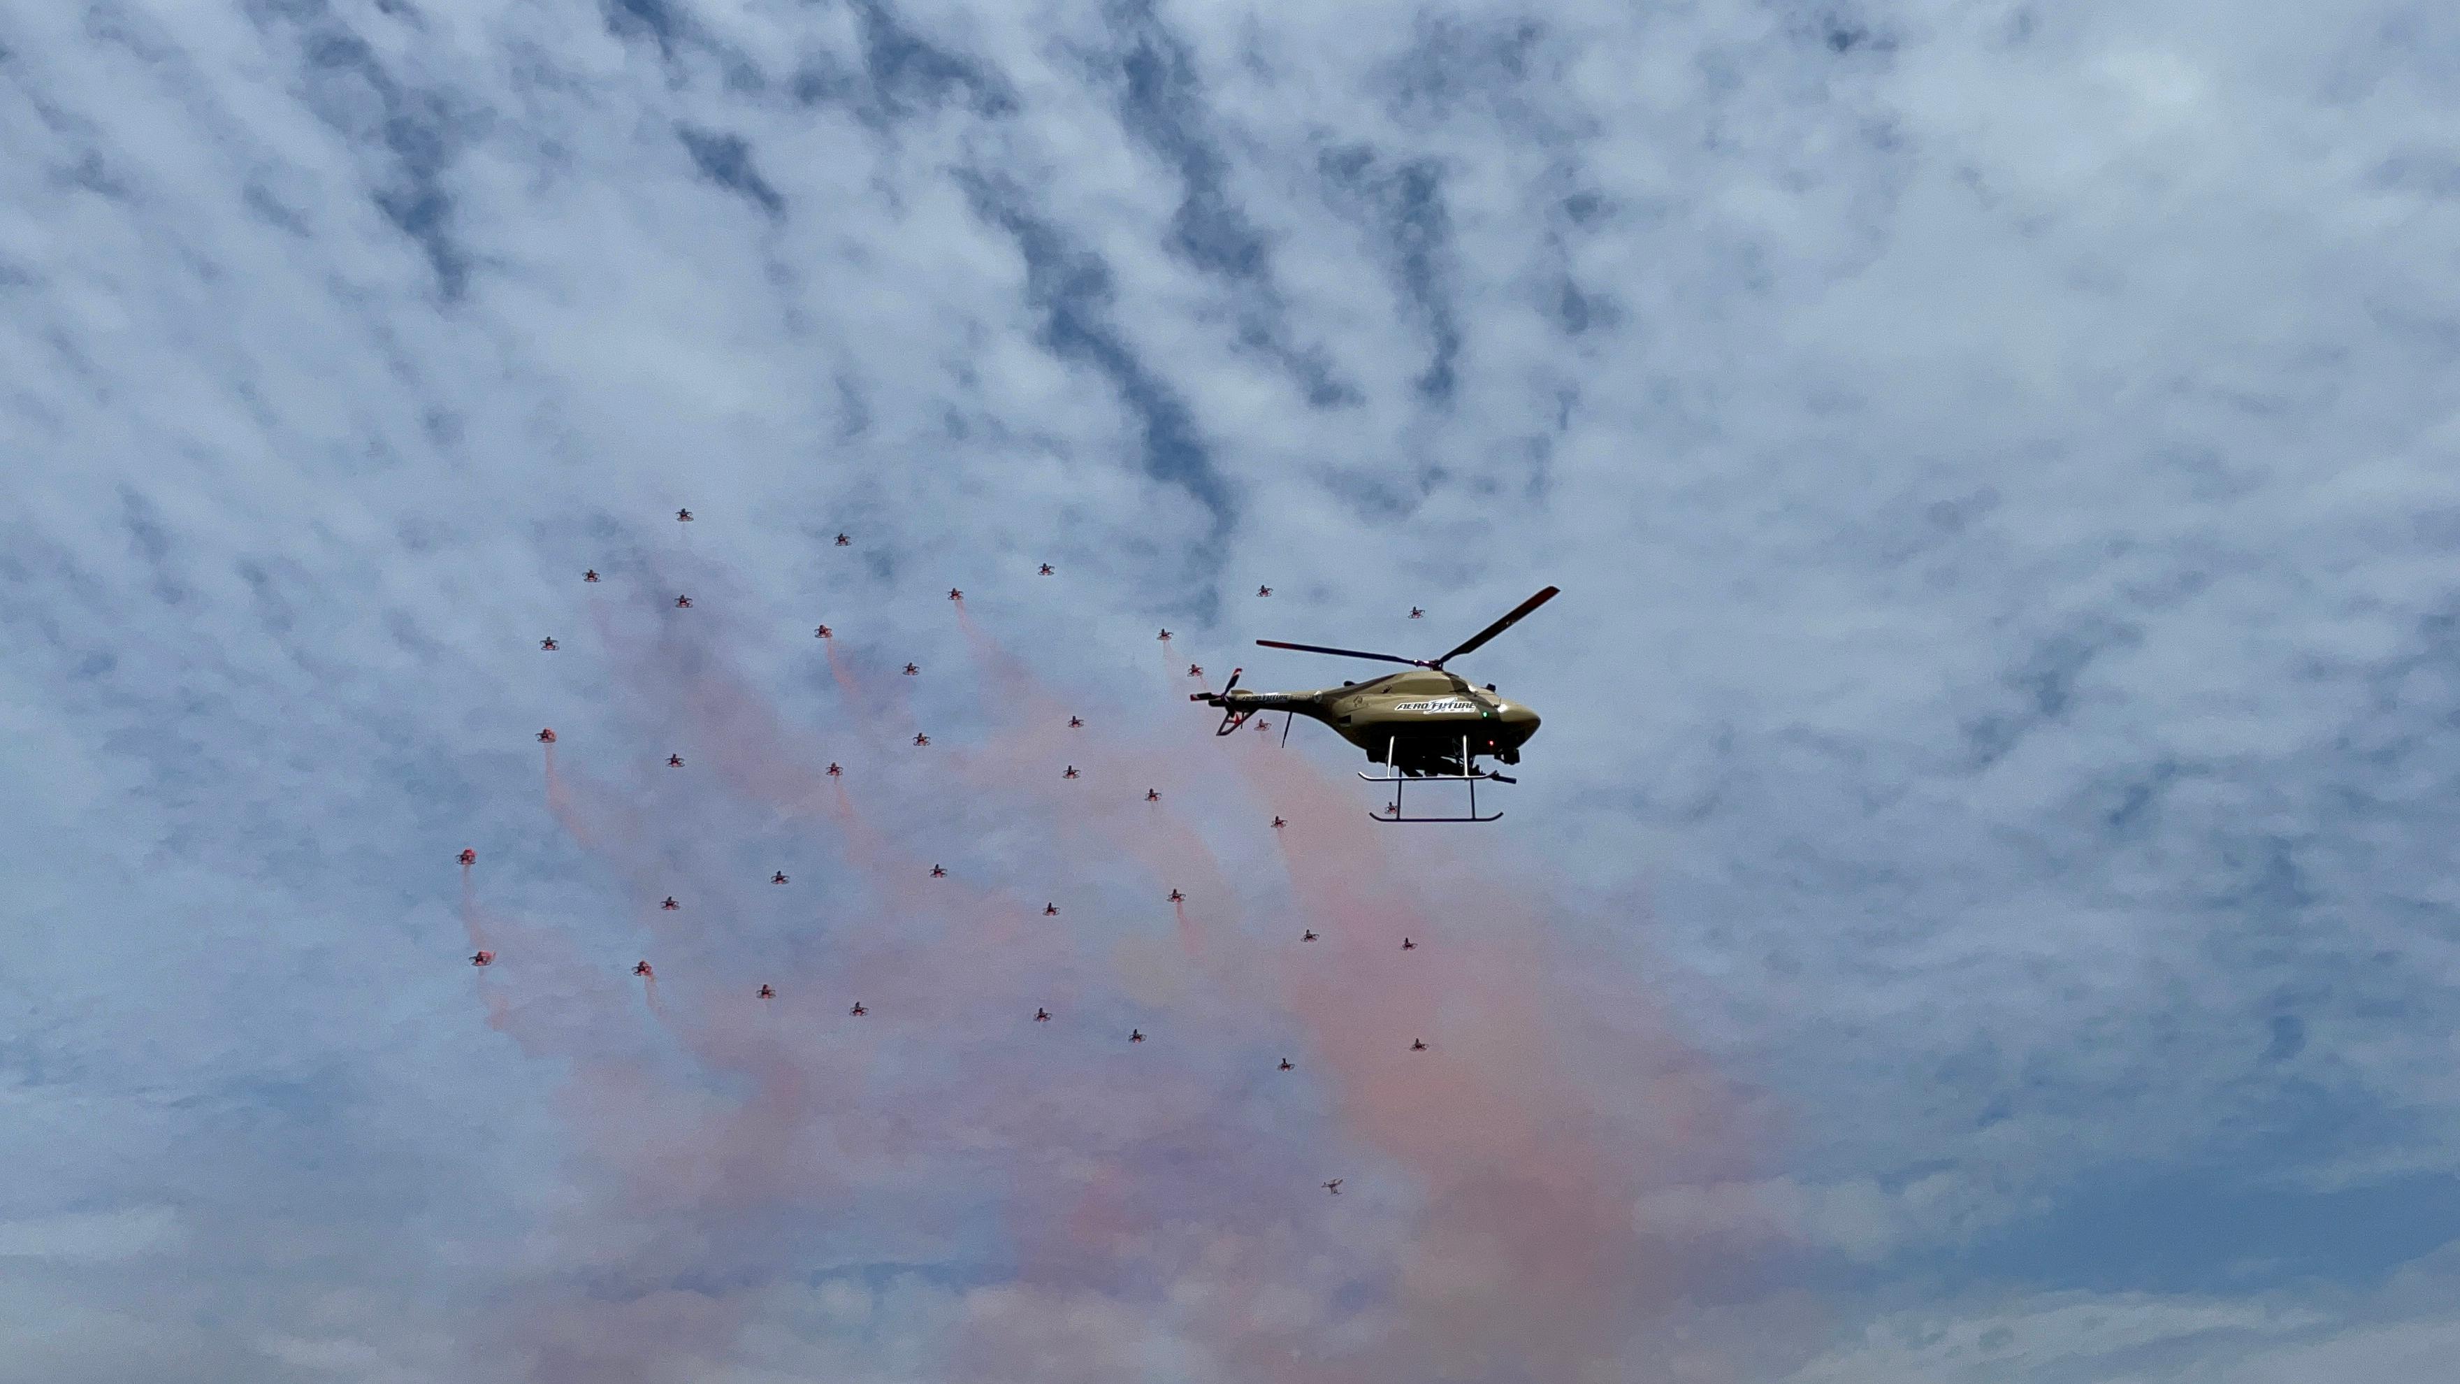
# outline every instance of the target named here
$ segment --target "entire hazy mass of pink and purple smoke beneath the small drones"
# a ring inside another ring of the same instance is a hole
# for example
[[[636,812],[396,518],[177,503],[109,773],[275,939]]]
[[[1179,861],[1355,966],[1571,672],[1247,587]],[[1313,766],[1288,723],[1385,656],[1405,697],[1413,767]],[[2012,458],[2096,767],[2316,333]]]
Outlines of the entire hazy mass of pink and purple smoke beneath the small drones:
[[[804,1290],[822,1273],[812,1244],[839,1224],[922,1246],[967,1224],[1011,1226],[1004,1263],[1021,1271],[959,1290],[959,1357],[920,1367],[927,1377],[1141,1382],[1161,1350],[1191,1379],[1633,1377],[1624,1337],[1678,1288],[1673,1261],[1631,1229],[1631,1199],[1722,1157],[1720,1096],[1673,1039],[1582,1012],[1535,941],[1542,909],[1476,879],[1478,837],[1375,835],[1397,827],[1368,823],[1348,783],[1269,736],[1205,739],[1213,758],[1198,761],[1176,734],[1070,734],[962,608],[1018,724],[964,754],[915,751],[861,786],[954,783],[982,818],[851,793],[814,771],[827,763],[817,736],[718,658],[713,623],[669,623],[617,667],[691,726],[696,771],[738,803],[829,830],[873,899],[834,919],[824,946],[763,956],[740,983],[723,975],[716,931],[674,970],[647,1037],[608,1002],[620,970],[605,960],[573,980],[578,1000],[509,1012],[524,1047],[583,1064],[566,1101],[583,1172],[613,1172],[613,1194],[581,1177],[581,1207],[556,1224],[573,1290],[524,1305],[517,1342],[536,1379],[726,1374],[763,1293]],[[1065,758],[1087,778],[1060,781]],[[1208,803],[1181,793],[1188,776],[1232,766],[1292,820],[1274,837],[1323,943],[1296,943],[1294,926],[1240,931],[1255,896],[1181,815]],[[1144,803],[1146,786],[1164,803]],[[593,825],[583,845],[637,869],[615,840],[625,803],[590,795],[563,791]],[[1127,919],[1077,899],[1048,926],[1031,914],[1038,899],[1001,914],[1016,901],[959,872],[930,879],[937,852],[913,850],[952,820],[996,820],[1021,837],[1011,852],[1068,872],[1127,859],[1151,872],[1154,894]],[[1414,855],[1429,847],[1466,867]],[[1168,948],[1151,909],[1168,887],[1188,889],[1173,909],[1181,958],[1213,985],[1139,1012],[1100,965],[1082,968],[1077,938],[1146,926]],[[991,941],[994,919],[1014,943]],[[1400,953],[1405,933],[1424,946]],[[529,956],[536,943],[509,946]],[[780,983],[777,1022],[750,1000],[753,975]],[[1070,985],[1082,997],[1033,1024],[1033,1005]],[[849,1017],[854,997],[873,1012]],[[1151,1042],[1129,1049],[1127,1022]],[[1412,1037],[1432,1052],[1410,1054]],[[672,1052],[603,1056],[649,1039]],[[1301,1071],[1274,1074],[1267,1044]],[[1653,1111],[1675,1116],[1658,1125]],[[1331,1175],[1351,1180],[1348,1194],[1314,1189]]]

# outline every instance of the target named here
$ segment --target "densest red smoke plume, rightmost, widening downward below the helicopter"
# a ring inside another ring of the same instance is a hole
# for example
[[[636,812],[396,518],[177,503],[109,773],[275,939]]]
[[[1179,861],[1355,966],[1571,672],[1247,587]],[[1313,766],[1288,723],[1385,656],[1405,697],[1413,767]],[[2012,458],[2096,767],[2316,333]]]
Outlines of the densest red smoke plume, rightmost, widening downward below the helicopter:
[[[1651,1155],[1660,1177],[1715,1172],[1732,1150],[1722,1091],[1663,1032],[1567,1005],[1530,941],[1545,931],[1540,914],[1454,879],[1451,889],[1474,894],[1461,909],[1474,928],[1444,928],[1387,857],[1390,842],[1375,835],[1387,827],[1365,823],[1353,795],[1301,756],[1260,751],[1242,754],[1242,768],[1294,820],[1274,835],[1328,938],[1284,968],[1287,1002],[1316,1034],[1343,1123],[1397,1157],[1439,1212],[1407,1244],[1395,1281],[1395,1308],[1412,1325],[1323,1377],[1569,1379],[1609,1367],[1641,1318],[1678,1290],[1631,1229],[1648,1175],[1626,1150]],[[1395,975],[1402,936],[1422,943],[1407,956],[1417,975]],[[1410,1037],[1434,1039],[1442,1064],[1410,1066],[1422,1056],[1407,1052]],[[1614,1128],[1594,1108],[1614,1086],[1565,1076],[1574,1044],[1619,1054],[1601,1076],[1621,1074],[1673,1118]],[[1257,1377],[1294,1377],[1279,1337],[1257,1340],[1228,1318],[1225,1332],[1232,1354],[1262,1352],[1250,1362]]]

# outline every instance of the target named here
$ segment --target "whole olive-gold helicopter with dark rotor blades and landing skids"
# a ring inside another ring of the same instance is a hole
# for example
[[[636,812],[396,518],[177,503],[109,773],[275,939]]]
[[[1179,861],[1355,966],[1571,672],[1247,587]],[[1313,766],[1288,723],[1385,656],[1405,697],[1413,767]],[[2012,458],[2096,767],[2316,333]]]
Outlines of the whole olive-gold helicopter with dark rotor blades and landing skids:
[[[1213,731],[1218,736],[1240,729],[1257,712],[1289,712],[1282,719],[1284,744],[1289,741],[1289,722],[1299,717],[1333,726],[1341,739],[1368,754],[1368,763],[1390,768],[1390,773],[1358,773],[1368,783],[1392,786],[1392,803],[1383,813],[1368,813],[1378,823],[1493,823],[1503,813],[1478,815],[1478,781],[1515,783],[1515,778],[1478,768],[1478,756],[1520,763],[1520,746],[1538,734],[1538,712],[1496,697],[1493,682],[1483,690],[1471,687],[1459,672],[1444,672],[1444,665],[1513,628],[1555,593],[1557,589],[1547,586],[1442,658],[1255,640],[1264,648],[1407,662],[1412,672],[1387,672],[1368,682],[1343,682],[1316,692],[1240,692],[1242,670],[1232,667],[1230,682],[1220,692],[1191,692],[1188,699],[1223,709],[1223,724]],[[1410,781],[1469,783],[1469,813],[1461,818],[1402,815],[1400,795]]]

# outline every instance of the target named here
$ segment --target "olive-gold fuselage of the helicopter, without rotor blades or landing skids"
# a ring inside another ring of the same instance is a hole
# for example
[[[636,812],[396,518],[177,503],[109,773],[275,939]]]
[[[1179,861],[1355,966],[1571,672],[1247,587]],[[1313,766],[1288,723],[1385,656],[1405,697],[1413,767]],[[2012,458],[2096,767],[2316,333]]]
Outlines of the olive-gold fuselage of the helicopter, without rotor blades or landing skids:
[[[1228,692],[1205,697],[1232,712],[1289,712],[1331,726],[1373,763],[1402,773],[1464,773],[1471,758],[1520,763],[1538,712],[1451,672],[1412,670],[1314,692]]]

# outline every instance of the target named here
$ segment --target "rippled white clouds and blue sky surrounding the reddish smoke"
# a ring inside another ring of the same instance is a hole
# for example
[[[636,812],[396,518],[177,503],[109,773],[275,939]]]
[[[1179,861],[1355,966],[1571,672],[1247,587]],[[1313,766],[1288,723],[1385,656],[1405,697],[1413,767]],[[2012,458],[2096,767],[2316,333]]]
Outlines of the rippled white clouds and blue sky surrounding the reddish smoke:
[[[1434,653],[1560,581],[1471,667],[1547,717],[1478,850],[1638,869],[1646,928],[1569,941],[1774,1111],[1656,1234],[1902,1268],[2160,1170],[2448,1170],[2448,44],[2376,2],[22,7],[0,1160],[59,1202],[0,1253],[244,1278],[423,1209],[492,1281],[566,1071],[472,1010],[440,862],[654,936],[526,736],[686,734],[573,579],[691,561],[824,734],[809,623],[937,675],[947,584],[1141,707],[1159,623],[1333,680],[1247,640]],[[809,845],[768,830],[657,850]],[[1995,1327],[2101,1369],[2044,1303],[1825,1369]],[[2145,1379],[2440,1330],[2113,1303],[2187,1342]]]

